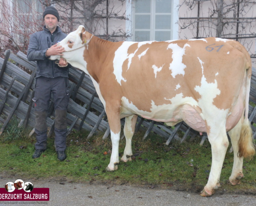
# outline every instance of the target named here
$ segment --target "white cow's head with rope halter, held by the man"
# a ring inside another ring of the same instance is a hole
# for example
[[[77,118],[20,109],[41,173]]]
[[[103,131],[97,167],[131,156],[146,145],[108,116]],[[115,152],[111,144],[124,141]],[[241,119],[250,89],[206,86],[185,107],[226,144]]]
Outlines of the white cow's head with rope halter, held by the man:
[[[63,58],[67,60],[74,67],[78,67],[81,70],[86,70],[86,61],[84,59],[84,50],[88,48],[88,42],[91,40],[92,35],[85,31],[84,26],[80,25],[76,31],[68,34],[68,36],[63,39],[58,44],[65,48],[63,53]],[[60,59],[61,56],[55,55],[51,56],[51,60]]]

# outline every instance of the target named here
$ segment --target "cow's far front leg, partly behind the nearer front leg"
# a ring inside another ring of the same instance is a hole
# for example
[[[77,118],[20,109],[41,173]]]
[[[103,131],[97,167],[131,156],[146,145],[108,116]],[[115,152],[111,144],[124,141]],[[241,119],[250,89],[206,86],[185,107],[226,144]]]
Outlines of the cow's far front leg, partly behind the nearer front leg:
[[[124,155],[121,158],[121,160],[124,162],[131,161],[131,156],[132,156],[131,140],[134,134],[137,117],[138,117],[137,115],[131,115],[131,116],[125,117],[124,134],[125,134],[126,145],[125,145]]]

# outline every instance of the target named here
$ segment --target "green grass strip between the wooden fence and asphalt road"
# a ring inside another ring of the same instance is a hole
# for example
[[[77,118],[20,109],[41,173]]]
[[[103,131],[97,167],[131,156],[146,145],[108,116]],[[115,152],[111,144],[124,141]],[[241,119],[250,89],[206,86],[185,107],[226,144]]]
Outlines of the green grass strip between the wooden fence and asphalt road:
[[[28,138],[28,131],[20,131],[15,124],[8,127],[0,137],[0,175],[19,178],[65,178],[79,182],[183,185],[187,189],[197,190],[199,187],[201,190],[207,182],[212,164],[210,145],[207,141],[202,147],[199,146],[200,139],[183,144],[172,141],[167,146],[163,138],[153,134],[143,141],[143,133],[134,135],[133,161],[120,162],[118,170],[114,172],[105,170],[110,161],[112,146],[110,138],[102,140],[103,134],[95,135],[87,141],[85,137],[88,133],[71,132],[67,138],[68,157],[63,162],[57,161],[54,138],[49,138],[46,152],[40,158],[32,159],[35,136]],[[7,136],[9,138],[6,138]],[[14,136],[16,138],[10,138]],[[124,148],[125,139],[119,145],[120,158]],[[108,152],[107,155],[103,154],[105,151]],[[244,161],[245,178],[237,186],[227,184],[232,166],[233,153],[227,152],[220,178],[222,188],[229,191],[255,191],[256,158]]]

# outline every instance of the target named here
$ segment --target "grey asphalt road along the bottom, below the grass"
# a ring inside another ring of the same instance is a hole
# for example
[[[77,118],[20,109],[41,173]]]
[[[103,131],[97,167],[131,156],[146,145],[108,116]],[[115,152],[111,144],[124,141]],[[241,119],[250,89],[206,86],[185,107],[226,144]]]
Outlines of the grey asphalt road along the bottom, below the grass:
[[[14,179],[0,177],[0,187]],[[255,195],[242,194],[215,194],[212,197],[201,197],[196,193],[167,190],[163,188],[140,187],[132,185],[115,185],[103,183],[72,183],[56,180],[24,179],[24,182],[32,182],[34,187],[50,188],[50,201],[0,201],[0,205],[149,205],[149,206],[255,206]]]

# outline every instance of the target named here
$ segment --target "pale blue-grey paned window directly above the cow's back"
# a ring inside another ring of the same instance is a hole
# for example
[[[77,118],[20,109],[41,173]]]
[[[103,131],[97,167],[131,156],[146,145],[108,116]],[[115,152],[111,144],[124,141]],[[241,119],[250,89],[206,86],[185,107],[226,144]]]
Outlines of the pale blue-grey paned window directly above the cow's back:
[[[172,39],[173,0],[134,1],[134,41]]]

